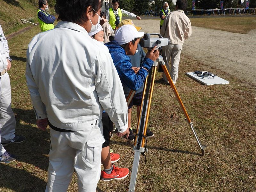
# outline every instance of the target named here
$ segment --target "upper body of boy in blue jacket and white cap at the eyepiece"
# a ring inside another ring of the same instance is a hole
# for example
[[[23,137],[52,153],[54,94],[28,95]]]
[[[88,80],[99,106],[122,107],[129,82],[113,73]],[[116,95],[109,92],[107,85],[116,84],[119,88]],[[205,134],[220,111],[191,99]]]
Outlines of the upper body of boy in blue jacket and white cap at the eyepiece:
[[[137,91],[142,86],[153,62],[159,56],[158,50],[152,49],[149,51],[140,66],[140,70],[135,73],[132,69],[131,59],[127,55],[135,54],[140,41],[139,38],[143,35],[144,32],[137,31],[133,25],[123,25],[116,30],[114,41],[105,44],[109,49],[123,86],[134,91]],[[129,137],[132,135],[134,137],[130,129]]]

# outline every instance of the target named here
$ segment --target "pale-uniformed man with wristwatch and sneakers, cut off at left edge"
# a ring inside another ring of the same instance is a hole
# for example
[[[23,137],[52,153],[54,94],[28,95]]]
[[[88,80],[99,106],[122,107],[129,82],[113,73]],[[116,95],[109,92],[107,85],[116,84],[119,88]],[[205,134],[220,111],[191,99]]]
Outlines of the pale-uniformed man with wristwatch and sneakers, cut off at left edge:
[[[25,137],[15,135],[15,116],[12,112],[12,96],[10,78],[7,73],[11,68],[12,59],[9,56],[9,47],[0,25],[0,162],[15,161],[17,156],[8,153],[4,146],[21,143]]]

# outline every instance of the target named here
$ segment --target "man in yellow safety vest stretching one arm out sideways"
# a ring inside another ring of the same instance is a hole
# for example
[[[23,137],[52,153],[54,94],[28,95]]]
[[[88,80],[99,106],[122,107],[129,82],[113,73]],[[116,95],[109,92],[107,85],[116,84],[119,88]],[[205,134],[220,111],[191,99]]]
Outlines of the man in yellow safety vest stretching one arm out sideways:
[[[118,7],[119,7],[118,0],[112,0],[112,7],[106,13],[106,19],[108,20],[112,29],[116,29],[118,24],[122,21],[122,16],[133,17],[133,18],[136,18],[137,20],[141,19],[139,16],[135,15],[134,13],[125,11]]]

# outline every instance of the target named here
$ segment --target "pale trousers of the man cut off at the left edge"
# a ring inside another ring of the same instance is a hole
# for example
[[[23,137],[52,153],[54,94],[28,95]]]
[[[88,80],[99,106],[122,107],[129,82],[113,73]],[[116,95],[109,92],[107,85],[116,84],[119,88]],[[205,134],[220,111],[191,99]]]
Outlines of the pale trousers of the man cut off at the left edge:
[[[15,137],[15,116],[11,108],[11,84],[8,73],[0,76],[0,135],[1,142],[7,142]],[[2,148],[1,148],[2,147]],[[3,146],[0,145],[0,155]],[[4,150],[5,152],[5,150]]]

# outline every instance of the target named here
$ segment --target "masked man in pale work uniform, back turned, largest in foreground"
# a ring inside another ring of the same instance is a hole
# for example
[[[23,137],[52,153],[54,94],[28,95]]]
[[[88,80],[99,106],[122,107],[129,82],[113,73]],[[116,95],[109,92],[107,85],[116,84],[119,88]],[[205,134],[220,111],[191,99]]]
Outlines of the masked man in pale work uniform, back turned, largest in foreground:
[[[28,45],[26,80],[37,126],[50,126],[45,191],[67,191],[74,170],[78,191],[96,191],[100,179],[101,116],[118,136],[129,135],[122,84],[108,48],[88,32],[100,21],[100,0],[57,0],[61,20]]]

